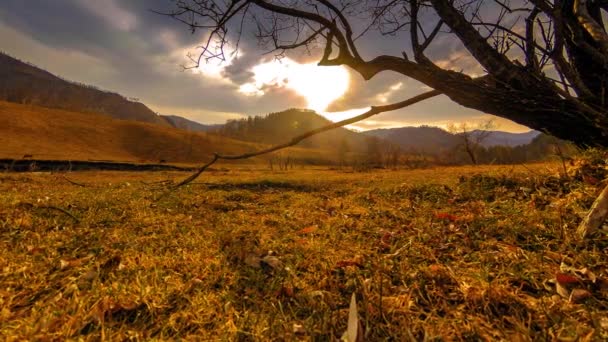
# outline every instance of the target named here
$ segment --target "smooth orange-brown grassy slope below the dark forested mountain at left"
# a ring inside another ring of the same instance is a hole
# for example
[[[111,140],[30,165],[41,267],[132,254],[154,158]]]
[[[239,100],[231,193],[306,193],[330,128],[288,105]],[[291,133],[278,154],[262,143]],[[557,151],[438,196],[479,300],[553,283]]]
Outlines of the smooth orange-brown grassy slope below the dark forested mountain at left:
[[[192,163],[255,144],[105,115],[0,101],[0,158]]]

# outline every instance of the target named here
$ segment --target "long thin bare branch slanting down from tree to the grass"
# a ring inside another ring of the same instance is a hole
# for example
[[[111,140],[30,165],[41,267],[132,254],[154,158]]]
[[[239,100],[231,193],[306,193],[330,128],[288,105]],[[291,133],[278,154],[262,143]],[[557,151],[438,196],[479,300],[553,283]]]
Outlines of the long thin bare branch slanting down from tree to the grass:
[[[294,146],[296,144],[298,144],[299,142],[301,142],[304,139],[310,138],[313,135],[317,135],[319,133],[323,133],[335,128],[339,128],[339,127],[343,127],[346,125],[350,125],[353,124],[355,122],[359,122],[361,120],[365,120],[371,116],[374,115],[378,115],[380,113],[384,113],[384,112],[388,112],[388,111],[392,111],[392,110],[396,110],[396,109],[401,109],[407,106],[411,106],[415,103],[418,103],[420,101],[429,99],[431,97],[435,97],[437,95],[440,95],[441,92],[438,90],[431,90],[428,91],[426,93],[422,93],[420,95],[414,96],[412,98],[409,98],[405,101],[401,101],[401,102],[396,102],[396,103],[392,103],[392,104],[388,104],[388,105],[384,105],[384,106],[373,106],[370,110],[368,110],[367,112],[354,116],[350,119],[345,119],[342,121],[338,121],[338,122],[334,122],[332,124],[323,126],[323,127],[319,127],[317,129],[313,129],[311,131],[308,131],[306,133],[300,134],[294,138],[292,138],[291,140],[289,140],[286,143],[280,144],[280,145],[275,145],[275,146],[271,146],[269,148],[260,150],[260,151],[255,151],[255,152],[249,152],[249,153],[243,153],[243,154],[238,154],[238,155],[222,155],[219,153],[214,153],[213,154],[213,158],[205,165],[201,166],[194,174],[192,174],[190,177],[184,179],[183,181],[177,183],[175,186],[173,186],[172,190],[175,190],[179,187],[182,187],[186,184],[191,183],[192,181],[194,181],[196,178],[198,178],[198,176],[200,176],[203,172],[205,172],[205,170],[207,170],[207,168],[209,168],[211,165],[215,164],[215,162],[217,162],[220,159],[224,159],[224,160],[238,160],[238,159],[248,159],[248,158],[252,158],[252,157],[257,157],[257,156],[261,156],[264,154],[268,154],[268,153],[272,153],[275,151],[279,151],[291,146]],[[162,197],[162,196],[161,196]]]

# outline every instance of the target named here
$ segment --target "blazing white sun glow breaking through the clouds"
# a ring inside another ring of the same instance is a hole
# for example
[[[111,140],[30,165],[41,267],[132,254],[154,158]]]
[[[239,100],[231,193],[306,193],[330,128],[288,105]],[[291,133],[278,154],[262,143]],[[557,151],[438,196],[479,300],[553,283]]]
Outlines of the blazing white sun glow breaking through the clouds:
[[[288,58],[255,66],[254,82],[241,85],[246,95],[261,96],[267,87],[285,87],[306,99],[309,109],[323,112],[348,90],[349,76],[343,67],[320,67],[299,64]]]

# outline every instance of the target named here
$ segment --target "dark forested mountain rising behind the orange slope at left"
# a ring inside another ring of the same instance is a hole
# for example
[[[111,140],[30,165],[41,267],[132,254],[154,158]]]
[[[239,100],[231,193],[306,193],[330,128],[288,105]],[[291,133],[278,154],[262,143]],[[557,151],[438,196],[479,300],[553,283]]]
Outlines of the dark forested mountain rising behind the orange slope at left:
[[[66,81],[3,53],[0,53],[0,100],[171,126],[140,102]]]

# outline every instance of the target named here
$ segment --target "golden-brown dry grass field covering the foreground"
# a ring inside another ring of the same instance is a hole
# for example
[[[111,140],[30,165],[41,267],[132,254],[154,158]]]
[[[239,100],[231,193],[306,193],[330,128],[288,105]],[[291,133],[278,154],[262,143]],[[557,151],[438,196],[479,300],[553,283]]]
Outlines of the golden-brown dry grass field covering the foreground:
[[[557,165],[0,174],[8,340],[608,339],[597,184]]]

